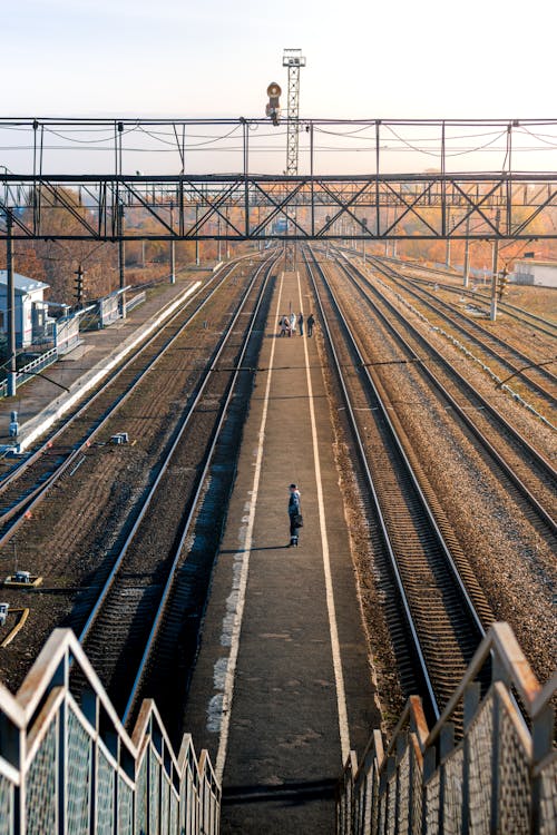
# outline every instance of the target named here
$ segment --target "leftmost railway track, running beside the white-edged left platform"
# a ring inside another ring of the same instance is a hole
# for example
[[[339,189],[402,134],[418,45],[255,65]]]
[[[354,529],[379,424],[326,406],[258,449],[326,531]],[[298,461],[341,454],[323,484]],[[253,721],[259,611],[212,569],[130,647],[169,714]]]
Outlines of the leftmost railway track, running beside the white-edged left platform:
[[[58,479],[79,465],[95,439],[115,420],[141,381],[229,282],[236,268],[237,264],[226,265],[206,282],[186,305],[170,315],[159,331],[115,370],[110,379],[60,421],[30,455],[0,481],[0,547],[11,539]]]

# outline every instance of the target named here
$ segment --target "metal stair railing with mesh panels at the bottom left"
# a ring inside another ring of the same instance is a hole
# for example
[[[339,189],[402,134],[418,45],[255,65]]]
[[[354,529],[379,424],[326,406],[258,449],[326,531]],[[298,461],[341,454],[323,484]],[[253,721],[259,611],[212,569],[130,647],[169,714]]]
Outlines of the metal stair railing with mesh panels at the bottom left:
[[[86,680],[81,703],[70,668]],[[0,684],[0,821],[8,835],[62,835],[74,831],[74,814],[90,821],[91,833],[108,816],[110,832],[139,835],[140,809],[148,821],[165,803],[174,821],[165,832],[218,833],[221,786],[208,754],[197,757],[187,734],[176,753],[148,699],[129,735],[69,629],[52,632],[17,696]],[[154,767],[157,780],[147,774]],[[57,824],[47,829],[49,814]]]

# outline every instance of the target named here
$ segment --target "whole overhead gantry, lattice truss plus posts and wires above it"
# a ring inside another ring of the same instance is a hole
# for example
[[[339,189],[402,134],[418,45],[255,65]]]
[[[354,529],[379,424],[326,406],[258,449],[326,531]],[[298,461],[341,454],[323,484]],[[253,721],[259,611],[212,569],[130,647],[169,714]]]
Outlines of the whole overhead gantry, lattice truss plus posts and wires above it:
[[[283,137],[264,119],[0,118],[0,238],[557,238],[557,119],[300,119],[290,176]]]

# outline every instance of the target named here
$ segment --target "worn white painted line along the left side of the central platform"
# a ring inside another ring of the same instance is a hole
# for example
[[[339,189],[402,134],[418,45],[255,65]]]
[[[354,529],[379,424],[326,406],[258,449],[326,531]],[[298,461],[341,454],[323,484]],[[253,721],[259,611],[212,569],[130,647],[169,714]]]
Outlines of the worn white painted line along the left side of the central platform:
[[[273,333],[276,334],[278,330],[278,311],[281,310],[281,296],[284,281],[284,273],[281,274],[281,285],[278,287],[278,296],[276,301],[276,313]],[[236,672],[236,662],[240,650],[240,633],[242,631],[242,619],[244,617],[245,595],[247,588],[247,573],[250,570],[250,551],[252,549],[252,537],[253,525],[255,522],[255,509],[257,507],[257,495],[260,491],[260,479],[261,468],[263,464],[263,445],[265,440],[265,426],[267,422],[268,411],[268,397],[271,392],[271,379],[273,375],[273,362],[275,355],[276,340],[273,340],[271,345],[271,357],[268,361],[267,372],[267,384],[265,387],[265,396],[263,399],[263,412],[261,415],[260,432],[257,435],[257,455],[255,458],[255,472],[253,477],[253,489],[248,505],[248,513],[245,527],[242,528],[241,544],[242,549],[236,552],[234,557],[235,562],[235,577],[233,582],[233,593],[229,596],[227,602],[227,613],[223,621],[223,635],[221,642],[226,645],[229,642],[231,651],[228,655],[228,664],[226,666],[226,675],[224,679],[224,688],[222,695],[218,694],[213,697],[209,703],[208,709],[208,726],[212,729],[216,729],[218,726],[218,709],[221,710],[221,736],[218,740],[218,752],[216,755],[215,774],[217,780],[222,784],[224,765],[226,763],[226,753],[228,748],[228,734],[231,726],[231,710],[232,699],[234,696],[234,677]],[[242,520],[244,521],[244,519]],[[236,568],[237,567],[237,568]],[[240,574],[240,576],[237,576]],[[232,610],[232,611],[231,611]],[[231,617],[233,615],[233,617]],[[215,664],[214,680],[217,682],[219,675],[222,675],[222,660],[218,659]]]

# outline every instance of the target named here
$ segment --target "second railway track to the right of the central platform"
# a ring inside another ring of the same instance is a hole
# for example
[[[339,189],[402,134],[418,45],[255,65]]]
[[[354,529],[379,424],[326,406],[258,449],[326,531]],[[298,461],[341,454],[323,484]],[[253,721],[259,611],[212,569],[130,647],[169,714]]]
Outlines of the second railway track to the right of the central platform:
[[[502,471],[518,494],[526,515],[544,533],[549,532],[555,537],[557,473],[551,463],[476,391],[373,283],[349,262],[342,263],[342,268],[372,314],[384,323],[408,360],[427,377],[433,392],[443,399],[443,405],[458,415],[476,442]],[[400,328],[408,335],[403,336]]]

